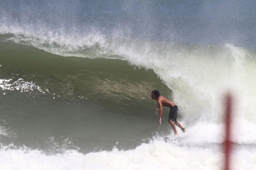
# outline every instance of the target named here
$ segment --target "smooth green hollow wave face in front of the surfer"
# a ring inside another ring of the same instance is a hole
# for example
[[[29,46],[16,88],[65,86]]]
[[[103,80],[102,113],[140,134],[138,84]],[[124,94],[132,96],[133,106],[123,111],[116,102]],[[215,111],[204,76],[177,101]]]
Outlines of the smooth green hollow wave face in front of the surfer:
[[[153,70],[11,42],[0,44],[0,55],[2,143],[88,152],[118,142],[129,149],[159,130],[151,91],[171,93]]]

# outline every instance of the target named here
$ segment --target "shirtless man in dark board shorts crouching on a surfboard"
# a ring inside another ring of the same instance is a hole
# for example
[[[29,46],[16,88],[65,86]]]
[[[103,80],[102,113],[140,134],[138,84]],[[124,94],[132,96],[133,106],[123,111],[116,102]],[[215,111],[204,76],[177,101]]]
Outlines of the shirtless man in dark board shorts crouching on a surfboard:
[[[158,108],[160,109],[159,111],[159,123],[161,124],[161,117],[163,113],[163,108],[162,106],[166,106],[170,108],[170,113],[169,113],[169,123],[172,126],[172,129],[174,131],[174,135],[178,135],[178,132],[176,130],[175,125],[177,125],[179,128],[181,128],[182,132],[186,132],[185,128],[181,126],[179,122],[177,122],[177,111],[178,111],[178,106],[176,106],[173,102],[168,100],[167,98],[160,96],[159,91],[153,90],[151,92],[151,98],[157,100],[157,108],[155,109],[155,113],[157,113]]]

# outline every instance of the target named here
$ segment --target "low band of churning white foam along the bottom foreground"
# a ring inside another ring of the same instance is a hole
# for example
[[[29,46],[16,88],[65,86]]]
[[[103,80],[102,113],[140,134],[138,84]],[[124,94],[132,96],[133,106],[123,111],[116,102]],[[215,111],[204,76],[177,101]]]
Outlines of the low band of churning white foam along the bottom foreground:
[[[141,144],[136,149],[101,151],[86,155],[75,150],[63,154],[45,155],[38,150],[0,150],[1,169],[16,170],[216,170],[224,166],[224,154],[214,149],[179,147],[175,144],[155,140]],[[255,169],[255,150],[234,151],[232,169]]]

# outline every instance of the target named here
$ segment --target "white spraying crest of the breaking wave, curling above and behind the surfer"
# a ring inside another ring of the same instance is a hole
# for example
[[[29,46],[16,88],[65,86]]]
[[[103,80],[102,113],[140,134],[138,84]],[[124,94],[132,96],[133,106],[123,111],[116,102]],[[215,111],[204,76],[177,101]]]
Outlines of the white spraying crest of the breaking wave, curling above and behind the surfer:
[[[187,115],[198,112],[186,108],[191,105],[201,107],[197,110],[206,110],[207,115],[219,113],[221,110],[214,109],[222,105],[218,102],[224,94],[222,89],[233,89],[234,95],[244,101],[241,110],[246,110],[245,113],[252,116],[255,112],[255,108],[248,108],[246,104],[255,100],[254,51],[229,44],[214,46],[122,39],[119,36],[108,38],[96,32],[78,36],[61,32],[34,34],[30,30],[18,30],[18,33],[11,31],[11,34],[3,34],[1,37],[9,36],[7,40],[32,45],[58,55],[121,59],[139,68],[153,69],[174,91],[173,97],[178,104],[185,106]],[[243,93],[237,93],[241,88]],[[202,112],[198,114],[196,117],[204,115]],[[218,115],[213,117],[218,118]],[[253,120],[256,120],[255,117]]]

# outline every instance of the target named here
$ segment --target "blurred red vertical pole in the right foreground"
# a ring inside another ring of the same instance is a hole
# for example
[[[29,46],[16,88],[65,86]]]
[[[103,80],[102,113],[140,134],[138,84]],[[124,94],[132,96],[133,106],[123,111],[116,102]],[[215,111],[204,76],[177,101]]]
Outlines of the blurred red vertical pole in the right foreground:
[[[232,128],[232,96],[227,94],[226,96],[226,137],[224,141],[225,147],[225,168],[224,170],[230,170],[230,156],[232,151],[231,141],[231,128]]]

